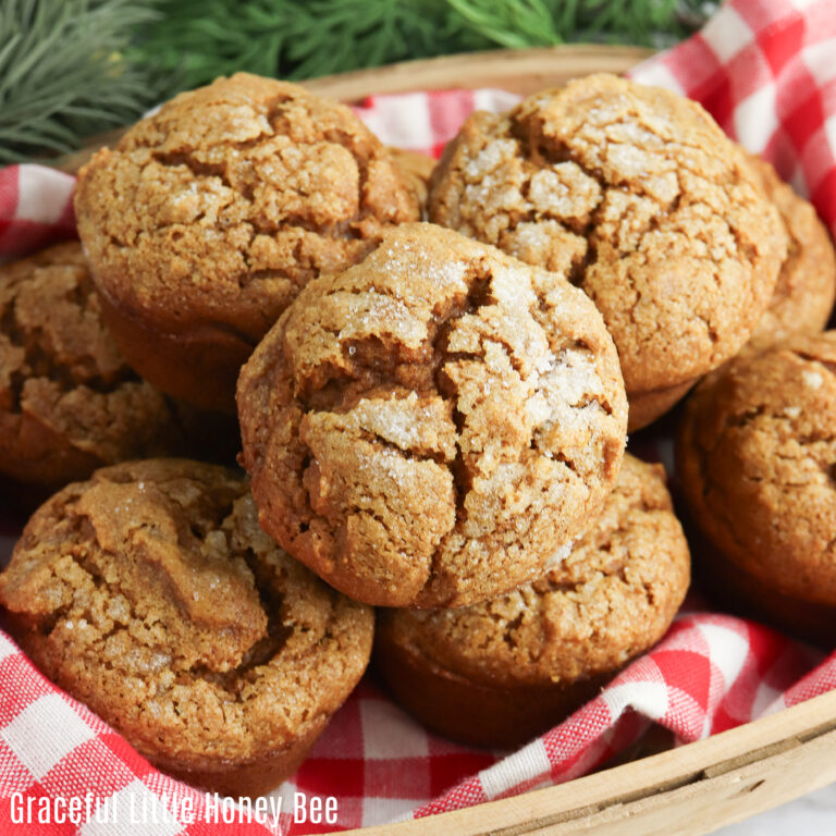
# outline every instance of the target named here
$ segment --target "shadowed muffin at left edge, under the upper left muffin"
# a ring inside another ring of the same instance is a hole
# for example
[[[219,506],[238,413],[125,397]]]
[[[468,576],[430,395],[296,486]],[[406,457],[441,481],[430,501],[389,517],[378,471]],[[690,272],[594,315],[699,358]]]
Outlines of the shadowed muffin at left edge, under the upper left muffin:
[[[100,314],[77,242],[0,267],[0,474],[57,488],[182,442]]]

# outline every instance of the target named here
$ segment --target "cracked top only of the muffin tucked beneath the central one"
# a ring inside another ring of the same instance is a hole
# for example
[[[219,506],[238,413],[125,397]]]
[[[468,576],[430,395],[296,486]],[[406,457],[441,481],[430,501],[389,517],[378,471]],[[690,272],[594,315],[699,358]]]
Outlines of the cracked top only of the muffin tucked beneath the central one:
[[[625,455],[601,516],[544,577],[458,610],[382,610],[378,638],[493,688],[568,685],[655,644],[689,577],[664,469]]]

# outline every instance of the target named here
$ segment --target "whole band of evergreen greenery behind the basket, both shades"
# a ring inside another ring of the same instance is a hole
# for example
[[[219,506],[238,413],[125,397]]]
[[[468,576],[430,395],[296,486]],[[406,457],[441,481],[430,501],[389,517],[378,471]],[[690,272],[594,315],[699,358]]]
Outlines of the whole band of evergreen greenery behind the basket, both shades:
[[[299,79],[566,41],[666,46],[716,0],[0,0],[0,164],[246,70]],[[455,84],[456,79],[451,79]]]

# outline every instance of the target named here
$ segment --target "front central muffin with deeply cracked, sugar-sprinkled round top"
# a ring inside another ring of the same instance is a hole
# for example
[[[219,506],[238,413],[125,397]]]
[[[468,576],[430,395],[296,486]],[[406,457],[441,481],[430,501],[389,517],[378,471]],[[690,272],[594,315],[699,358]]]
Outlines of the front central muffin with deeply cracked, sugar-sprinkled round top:
[[[238,380],[262,527],[389,606],[471,603],[541,574],[611,490],[626,411],[580,291],[431,224],[308,284]]]

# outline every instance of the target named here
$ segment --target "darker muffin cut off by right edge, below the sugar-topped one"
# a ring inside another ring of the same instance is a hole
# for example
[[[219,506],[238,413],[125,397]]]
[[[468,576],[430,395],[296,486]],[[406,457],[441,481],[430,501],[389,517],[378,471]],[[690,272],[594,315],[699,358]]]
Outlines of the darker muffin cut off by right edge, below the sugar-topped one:
[[[747,352],[701,383],[677,439],[700,556],[764,620],[836,637],[836,331]]]

